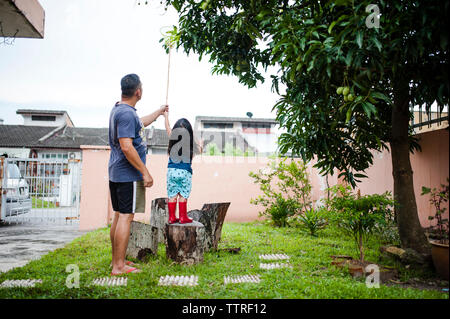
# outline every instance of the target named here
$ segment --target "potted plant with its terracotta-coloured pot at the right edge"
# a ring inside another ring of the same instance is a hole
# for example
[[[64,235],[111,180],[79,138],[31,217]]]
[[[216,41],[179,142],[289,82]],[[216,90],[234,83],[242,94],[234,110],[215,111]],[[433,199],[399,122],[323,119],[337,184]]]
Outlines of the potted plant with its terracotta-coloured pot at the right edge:
[[[435,208],[434,216],[429,216],[429,220],[436,220],[436,224],[432,227],[435,230],[435,239],[430,239],[431,257],[433,259],[436,272],[442,278],[448,280],[448,235],[449,225],[448,218],[444,218],[444,213],[447,210],[444,206],[448,202],[449,197],[449,179],[447,178],[447,185],[441,184],[440,189],[422,187],[422,195],[430,194],[430,203]]]

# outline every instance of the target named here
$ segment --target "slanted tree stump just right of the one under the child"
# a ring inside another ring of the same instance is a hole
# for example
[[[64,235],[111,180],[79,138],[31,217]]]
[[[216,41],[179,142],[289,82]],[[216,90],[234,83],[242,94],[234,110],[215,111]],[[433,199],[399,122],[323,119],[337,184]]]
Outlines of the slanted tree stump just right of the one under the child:
[[[230,203],[204,204],[201,210],[192,210],[188,216],[205,226],[205,251],[217,250],[222,226]]]

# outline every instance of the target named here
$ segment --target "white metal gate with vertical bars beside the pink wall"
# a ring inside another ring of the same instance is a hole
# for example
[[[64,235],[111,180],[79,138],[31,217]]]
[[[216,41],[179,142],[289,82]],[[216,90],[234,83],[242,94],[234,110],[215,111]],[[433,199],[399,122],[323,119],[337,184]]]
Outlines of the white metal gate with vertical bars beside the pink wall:
[[[78,223],[80,160],[3,159],[0,219],[6,223]]]

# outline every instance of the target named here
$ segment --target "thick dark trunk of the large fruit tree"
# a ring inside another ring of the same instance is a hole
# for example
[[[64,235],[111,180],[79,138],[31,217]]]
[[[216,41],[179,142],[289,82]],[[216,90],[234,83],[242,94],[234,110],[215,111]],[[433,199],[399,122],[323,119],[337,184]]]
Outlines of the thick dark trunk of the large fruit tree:
[[[400,85],[399,85],[400,84]],[[420,225],[414,194],[413,171],[409,158],[408,128],[410,121],[408,83],[396,81],[392,108],[391,157],[394,177],[395,215],[403,248],[430,255],[430,245]]]

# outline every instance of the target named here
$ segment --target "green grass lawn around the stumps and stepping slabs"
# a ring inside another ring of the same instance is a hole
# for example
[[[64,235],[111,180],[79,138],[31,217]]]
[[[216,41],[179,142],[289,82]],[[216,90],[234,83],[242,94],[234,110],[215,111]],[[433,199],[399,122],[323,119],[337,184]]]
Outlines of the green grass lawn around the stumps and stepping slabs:
[[[380,245],[377,240],[371,241],[367,260],[379,262]],[[110,273],[109,229],[104,228],[24,267],[0,274],[0,282],[43,280],[35,288],[2,288],[0,298],[449,298],[448,293],[435,290],[385,285],[367,288],[363,279],[353,279],[347,270],[330,265],[331,255],[357,256],[351,238],[331,227],[314,238],[296,228],[225,223],[219,249],[235,247],[240,247],[241,252],[208,252],[202,264],[181,266],[166,259],[165,247],[160,244],[158,255],[140,264],[142,273],[128,275],[127,287],[89,287],[94,278]],[[259,255],[267,253],[291,256],[293,268],[260,269]],[[69,264],[76,264],[80,269],[80,288],[69,289],[65,285]],[[412,270],[399,270],[403,278],[417,276]],[[261,282],[224,285],[224,276],[243,274],[259,274]],[[165,275],[198,275],[199,285],[158,286],[159,277]]]

